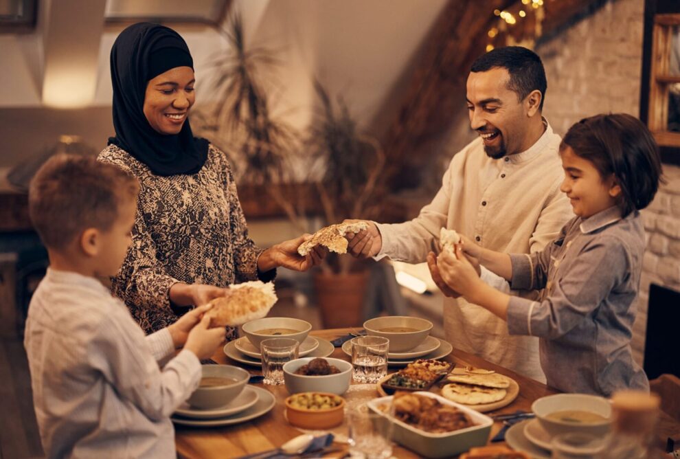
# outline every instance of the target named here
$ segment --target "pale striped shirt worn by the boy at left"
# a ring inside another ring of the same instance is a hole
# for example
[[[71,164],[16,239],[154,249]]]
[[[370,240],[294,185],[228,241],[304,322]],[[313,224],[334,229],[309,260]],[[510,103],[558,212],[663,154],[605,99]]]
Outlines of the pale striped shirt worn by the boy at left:
[[[147,337],[98,280],[48,269],[24,345],[48,458],[174,458],[170,414],[198,387],[201,363],[167,328]]]

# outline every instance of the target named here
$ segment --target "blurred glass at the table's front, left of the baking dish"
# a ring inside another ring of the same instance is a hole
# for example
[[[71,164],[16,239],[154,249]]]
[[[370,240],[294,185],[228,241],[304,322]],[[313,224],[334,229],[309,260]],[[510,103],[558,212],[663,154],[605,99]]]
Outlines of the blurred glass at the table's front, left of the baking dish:
[[[348,443],[352,458],[386,459],[392,456],[392,422],[364,403],[348,410]]]

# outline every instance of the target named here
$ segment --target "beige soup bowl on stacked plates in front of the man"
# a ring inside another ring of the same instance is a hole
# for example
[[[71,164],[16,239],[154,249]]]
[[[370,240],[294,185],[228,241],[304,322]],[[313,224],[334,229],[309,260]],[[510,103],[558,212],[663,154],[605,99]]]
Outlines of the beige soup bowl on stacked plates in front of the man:
[[[388,315],[363,323],[368,335],[389,339],[389,352],[406,352],[420,345],[432,330],[432,322],[420,317]]]

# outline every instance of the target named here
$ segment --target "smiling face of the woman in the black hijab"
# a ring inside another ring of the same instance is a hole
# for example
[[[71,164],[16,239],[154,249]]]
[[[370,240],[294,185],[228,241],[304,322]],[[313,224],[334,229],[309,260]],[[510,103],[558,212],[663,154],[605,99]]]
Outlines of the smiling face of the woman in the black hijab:
[[[144,115],[161,134],[179,134],[196,101],[194,71],[174,67],[149,80],[144,94]]]

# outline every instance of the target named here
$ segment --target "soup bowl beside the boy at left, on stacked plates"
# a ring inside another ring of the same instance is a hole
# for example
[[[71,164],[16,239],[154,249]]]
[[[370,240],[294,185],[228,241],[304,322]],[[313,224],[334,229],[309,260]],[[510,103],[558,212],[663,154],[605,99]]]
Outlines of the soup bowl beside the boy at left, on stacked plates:
[[[212,410],[236,399],[245,388],[250,374],[232,365],[203,365],[201,383],[187,402],[199,410]]]

